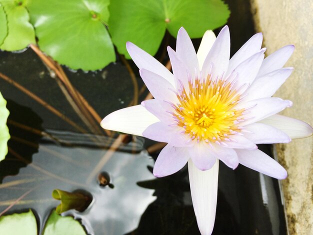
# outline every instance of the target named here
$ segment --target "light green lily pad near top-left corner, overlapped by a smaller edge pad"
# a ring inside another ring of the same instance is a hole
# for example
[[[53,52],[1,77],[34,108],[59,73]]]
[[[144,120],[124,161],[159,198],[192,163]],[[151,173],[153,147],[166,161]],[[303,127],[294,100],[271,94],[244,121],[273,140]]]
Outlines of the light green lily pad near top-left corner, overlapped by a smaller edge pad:
[[[33,26],[23,0],[0,0],[7,20],[8,34],[0,46],[2,50],[21,50],[35,43]],[[1,22],[2,24],[2,22]]]

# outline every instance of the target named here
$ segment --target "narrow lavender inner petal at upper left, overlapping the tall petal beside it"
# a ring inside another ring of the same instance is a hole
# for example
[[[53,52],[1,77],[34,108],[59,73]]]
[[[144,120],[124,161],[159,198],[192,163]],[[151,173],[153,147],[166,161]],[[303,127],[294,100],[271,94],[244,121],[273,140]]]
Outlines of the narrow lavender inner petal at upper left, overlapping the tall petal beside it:
[[[182,82],[185,88],[188,87],[188,72],[185,63],[180,60],[177,56],[177,53],[167,46],[167,52],[171,63],[171,68],[173,70],[174,77],[176,78],[175,81],[177,83],[176,87],[180,88],[180,84],[178,79]]]

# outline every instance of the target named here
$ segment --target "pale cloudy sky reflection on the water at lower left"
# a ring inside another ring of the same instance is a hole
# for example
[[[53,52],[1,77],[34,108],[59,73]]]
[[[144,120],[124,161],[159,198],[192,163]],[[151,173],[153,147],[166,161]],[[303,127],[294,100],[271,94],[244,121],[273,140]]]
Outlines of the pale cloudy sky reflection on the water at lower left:
[[[59,132],[58,136],[62,134]],[[89,141],[88,137],[85,136],[86,141]],[[81,135],[79,141],[83,141]],[[142,139],[134,146],[136,150],[139,150],[139,146],[142,149]],[[132,148],[132,142],[122,145],[123,150]],[[106,149],[99,148],[41,143],[38,152],[32,156],[32,163],[21,168],[18,175],[4,178],[0,188],[0,210],[28,189],[36,187],[13,208],[35,209],[42,224],[44,216],[59,203],[51,197],[53,189],[73,191],[80,188],[93,195],[91,206],[82,213],[70,210],[64,214],[81,218],[91,234],[123,234],[133,230],[148,204],[156,198],[152,195],[153,189],[136,184],[137,181],[154,178],[147,169],[147,165],[153,165],[154,161],[145,151],[138,154],[114,152],[101,169],[109,173],[114,188],[103,188],[98,185],[97,175],[90,183],[87,179],[106,152]]]

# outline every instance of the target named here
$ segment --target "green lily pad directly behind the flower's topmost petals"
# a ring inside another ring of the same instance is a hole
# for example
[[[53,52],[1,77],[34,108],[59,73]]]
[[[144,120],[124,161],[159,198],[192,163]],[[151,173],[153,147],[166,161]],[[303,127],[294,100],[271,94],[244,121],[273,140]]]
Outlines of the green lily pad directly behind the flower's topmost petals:
[[[191,38],[196,38],[223,25],[229,16],[221,0],[113,0],[109,11],[112,41],[126,58],[130,58],[126,41],[154,55],[166,28],[176,37],[183,26]]]

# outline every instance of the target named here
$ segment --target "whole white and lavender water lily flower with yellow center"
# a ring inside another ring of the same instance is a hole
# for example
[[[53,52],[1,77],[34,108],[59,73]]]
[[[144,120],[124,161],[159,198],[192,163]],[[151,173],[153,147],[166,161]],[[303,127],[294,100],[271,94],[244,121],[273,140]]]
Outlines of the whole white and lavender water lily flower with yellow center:
[[[216,210],[219,160],[238,163],[283,179],[286,170],[257,149],[258,143],[286,143],[312,133],[307,123],[278,115],[292,102],[271,97],[292,72],[283,67],[293,45],[264,59],[262,34],[256,33],[229,59],[228,27],[217,37],[206,31],[197,53],[184,28],[176,51],[167,47],[168,71],[132,44],[127,50],[154,99],[107,115],[101,126],[168,144],[153,168],[156,177],[175,173],[188,163],[190,190],[201,234],[211,234]]]

